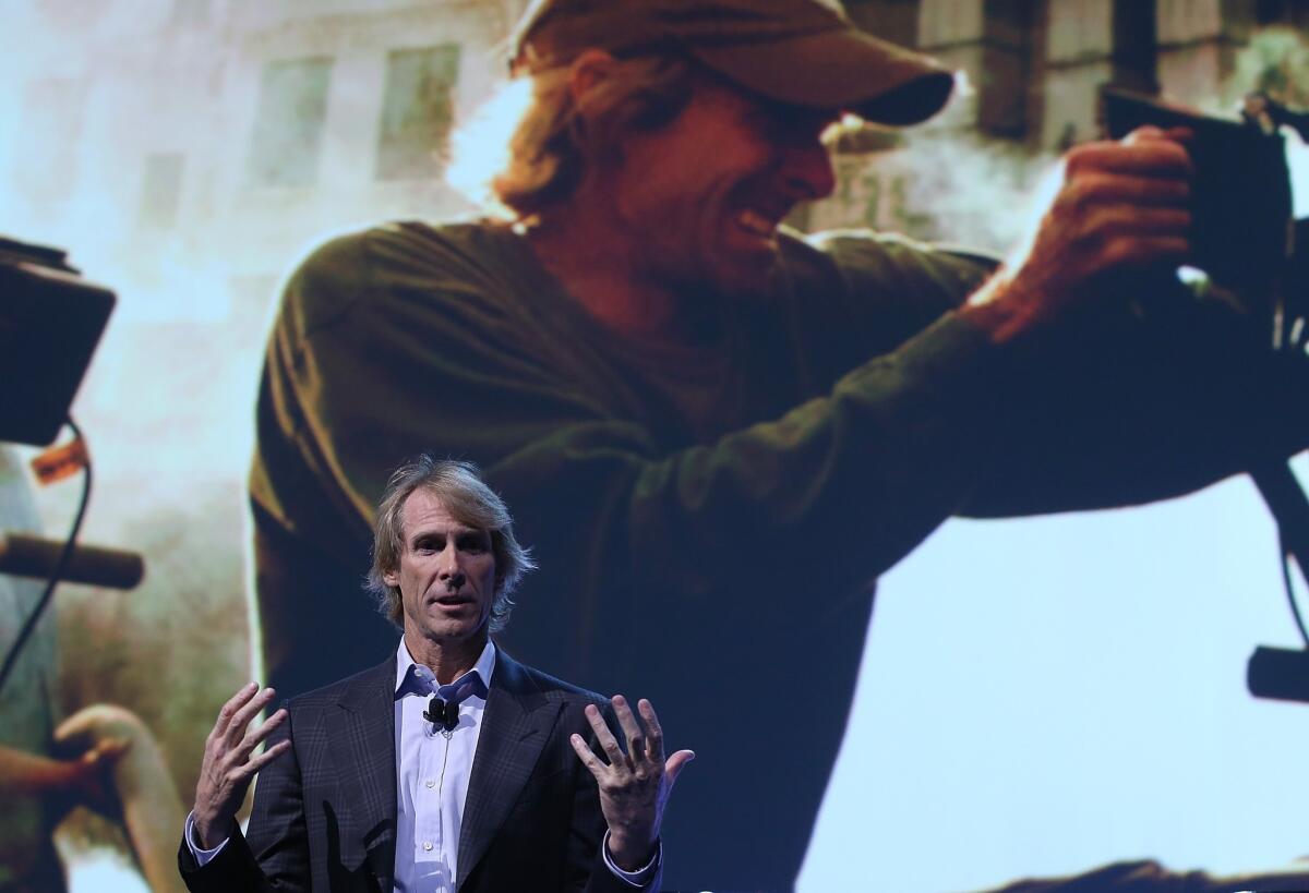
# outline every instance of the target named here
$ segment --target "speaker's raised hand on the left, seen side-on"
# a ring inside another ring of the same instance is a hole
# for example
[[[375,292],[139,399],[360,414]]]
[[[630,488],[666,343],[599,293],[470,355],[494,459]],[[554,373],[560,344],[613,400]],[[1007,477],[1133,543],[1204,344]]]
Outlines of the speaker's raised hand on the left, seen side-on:
[[[287,711],[279,710],[255,728],[247,728],[276,697],[272,689],[260,690],[251,682],[237,691],[219,711],[219,721],[204,741],[204,763],[200,780],[195,784],[195,841],[200,848],[211,850],[230,834],[232,822],[245,800],[250,780],[270,762],[291,748],[284,740],[262,753],[254,753],[263,741],[287,720]]]

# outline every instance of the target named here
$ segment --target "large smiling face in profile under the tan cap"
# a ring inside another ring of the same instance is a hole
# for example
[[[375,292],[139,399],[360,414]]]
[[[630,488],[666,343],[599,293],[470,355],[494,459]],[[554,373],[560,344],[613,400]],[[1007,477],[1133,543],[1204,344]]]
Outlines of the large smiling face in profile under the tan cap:
[[[776,259],[778,223],[831,194],[822,131],[836,113],[797,109],[703,79],[668,126],[624,136],[601,173],[637,276],[662,285],[757,291]]]

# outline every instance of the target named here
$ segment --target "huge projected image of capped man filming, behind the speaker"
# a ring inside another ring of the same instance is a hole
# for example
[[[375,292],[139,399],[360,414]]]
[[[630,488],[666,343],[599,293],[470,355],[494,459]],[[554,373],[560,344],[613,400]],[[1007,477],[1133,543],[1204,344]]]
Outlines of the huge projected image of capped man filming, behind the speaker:
[[[373,507],[429,452],[534,549],[500,647],[695,749],[666,889],[1305,885],[1250,872],[1304,852],[1309,708],[1246,685],[1305,649],[1293,4],[76,5],[13,12],[0,232],[117,295],[82,537],[147,572],[58,587],[5,746],[115,704],[185,816],[241,685],[394,656]],[[1268,164],[1109,140],[1106,86]],[[60,542],[5,449],[0,533]],[[173,883],[13,796],[0,879]]]

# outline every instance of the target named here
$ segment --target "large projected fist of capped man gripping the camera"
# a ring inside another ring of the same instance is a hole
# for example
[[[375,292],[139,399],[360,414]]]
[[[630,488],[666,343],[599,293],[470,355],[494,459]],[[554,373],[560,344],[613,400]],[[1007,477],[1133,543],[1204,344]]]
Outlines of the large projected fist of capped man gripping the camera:
[[[1004,342],[1111,291],[1117,274],[1186,263],[1189,136],[1143,127],[1072,149],[1039,228],[969,300],[966,316]]]

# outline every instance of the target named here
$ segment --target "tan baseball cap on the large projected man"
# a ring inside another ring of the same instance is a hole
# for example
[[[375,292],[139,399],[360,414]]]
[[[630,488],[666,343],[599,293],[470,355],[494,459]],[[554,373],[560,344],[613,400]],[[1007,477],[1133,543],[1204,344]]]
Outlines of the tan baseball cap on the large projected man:
[[[954,75],[880,41],[816,0],[533,0],[511,48],[516,72],[614,55],[685,52],[741,86],[791,105],[882,124],[940,111]]]

